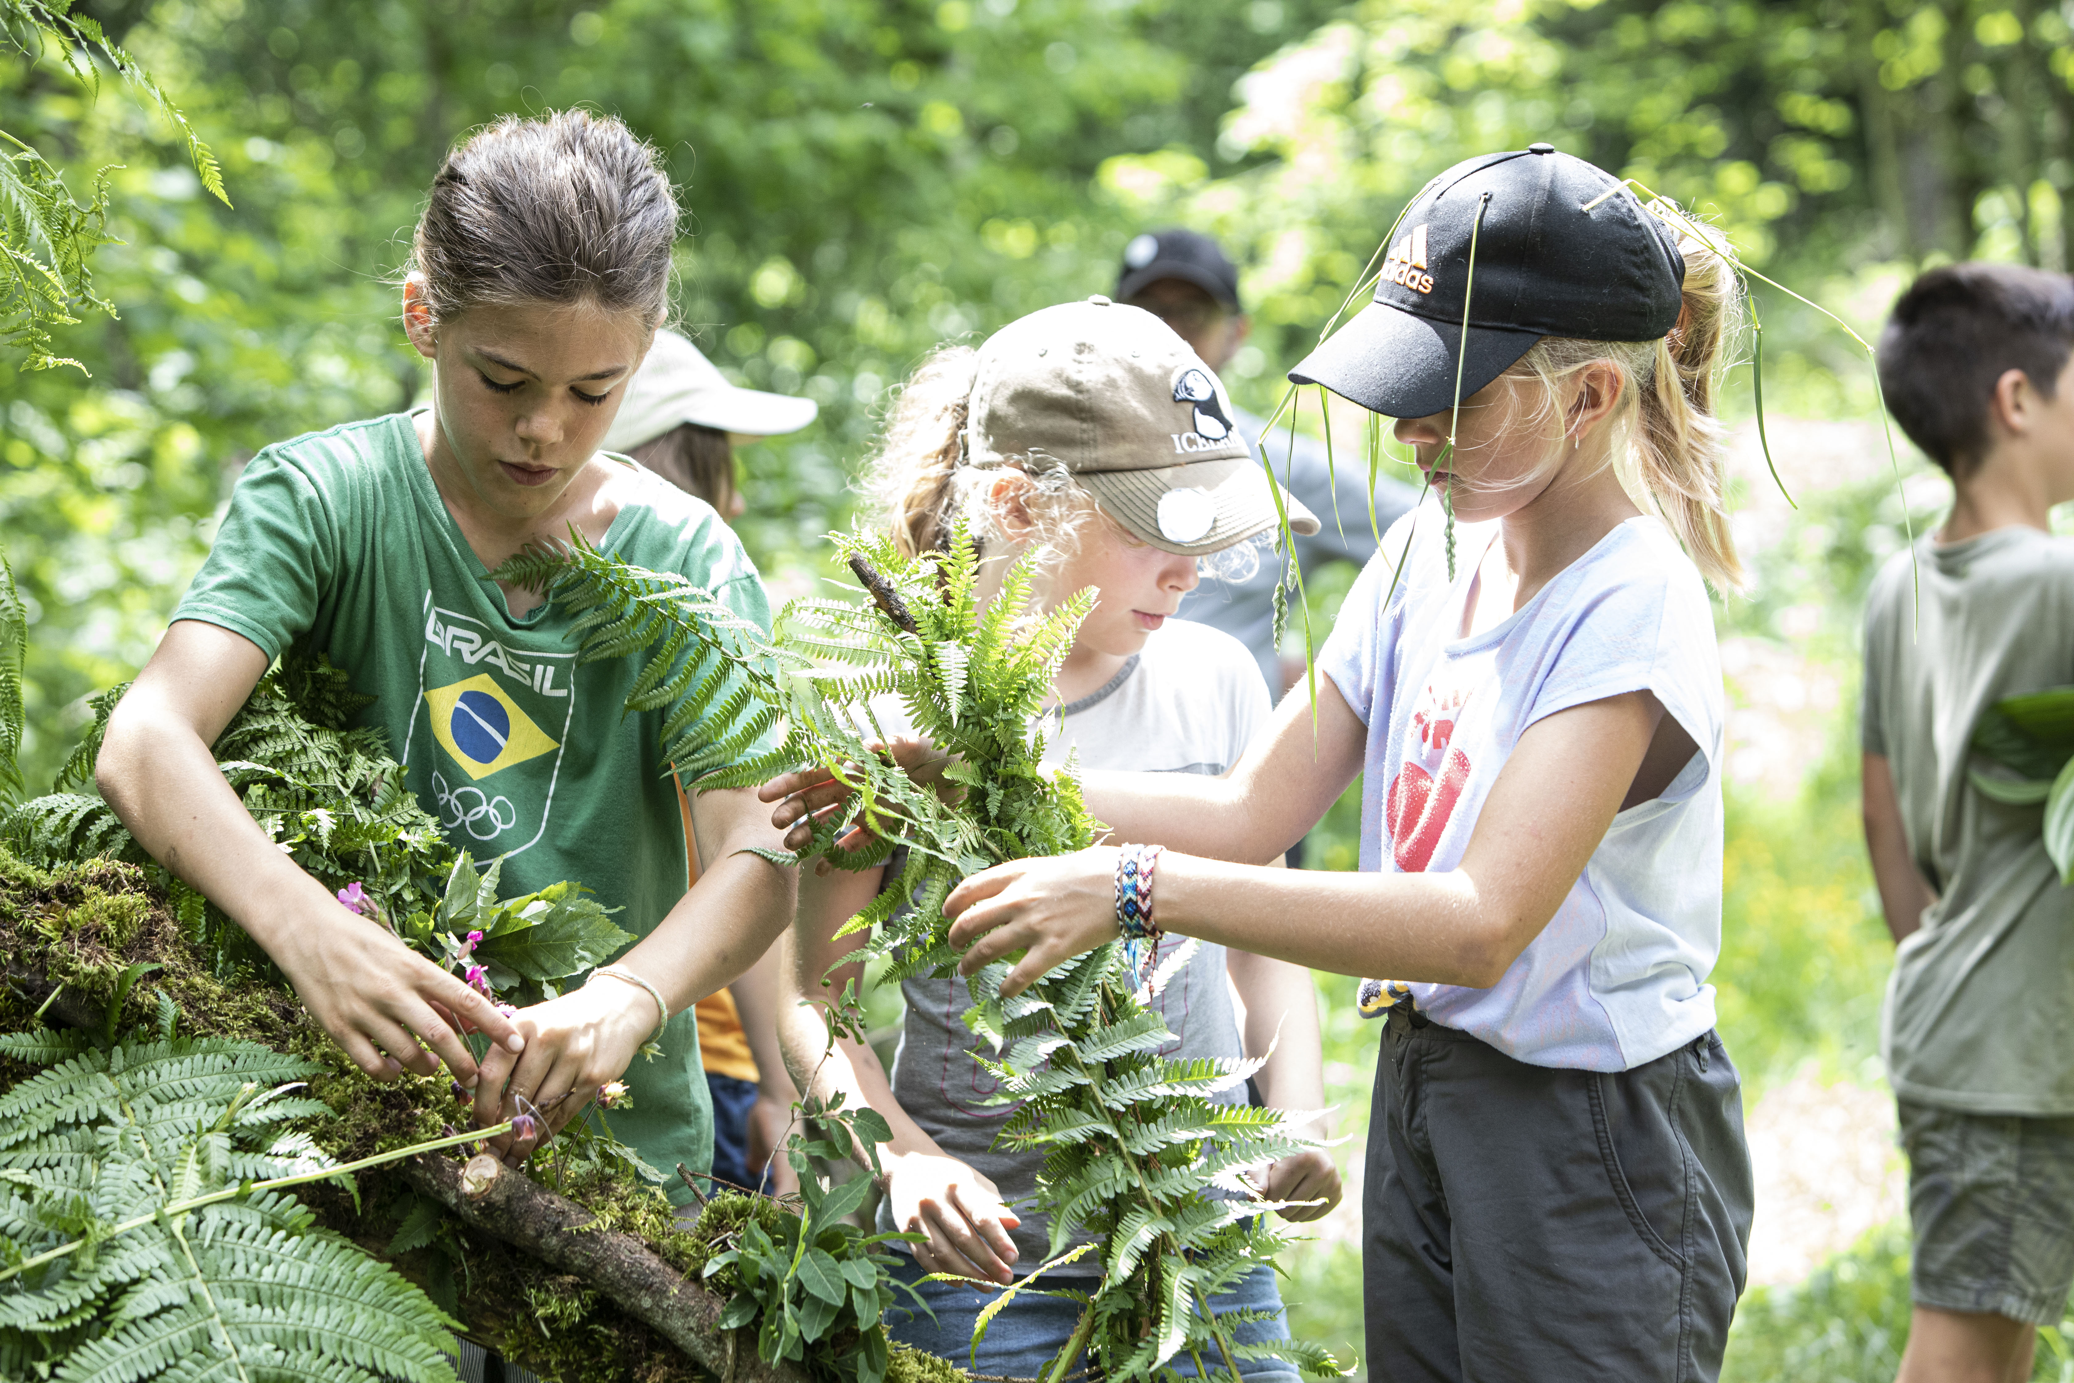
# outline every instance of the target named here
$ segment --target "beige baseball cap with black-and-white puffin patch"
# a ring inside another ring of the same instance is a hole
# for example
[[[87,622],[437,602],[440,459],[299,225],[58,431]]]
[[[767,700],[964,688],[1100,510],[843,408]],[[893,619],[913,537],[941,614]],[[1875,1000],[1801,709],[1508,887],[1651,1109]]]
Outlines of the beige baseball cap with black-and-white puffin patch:
[[[1101,510],[1161,552],[1199,556],[1317,516],[1276,485],[1238,433],[1215,371],[1174,328],[1105,297],[1045,307],[979,348],[966,460],[1056,460]]]

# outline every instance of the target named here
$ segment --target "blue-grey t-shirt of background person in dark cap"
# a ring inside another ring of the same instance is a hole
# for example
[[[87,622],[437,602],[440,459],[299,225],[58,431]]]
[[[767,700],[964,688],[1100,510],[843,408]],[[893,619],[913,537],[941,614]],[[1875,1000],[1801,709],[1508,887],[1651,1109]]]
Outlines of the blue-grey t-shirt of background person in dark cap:
[[[1257,438],[1267,419],[1238,413],[1238,431]],[[1388,533],[1402,514],[1419,502],[1419,491],[1398,481],[1375,481],[1375,527],[1369,527],[1369,467],[1352,438],[1334,442],[1332,464],[1325,444],[1296,433],[1290,448],[1288,425],[1278,425],[1267,438],[1267,460],[1302,506],[1317,514],[1317,533],[1296,539],[1296,562],[1305,574],[1325,562],[1367,566],[1375,556],[1375,535]],[[1282,653],[1276,649],[1276,578],[1282,564],[1273,554],[1261,554],[1261,566],[1244,581],[1203,576],[1203,585],[1182,597],[1180,618],[1222,628],[1246,645],[1269,699],[1282,695]],[[1319,630],[1323,641],[1323,630]]]

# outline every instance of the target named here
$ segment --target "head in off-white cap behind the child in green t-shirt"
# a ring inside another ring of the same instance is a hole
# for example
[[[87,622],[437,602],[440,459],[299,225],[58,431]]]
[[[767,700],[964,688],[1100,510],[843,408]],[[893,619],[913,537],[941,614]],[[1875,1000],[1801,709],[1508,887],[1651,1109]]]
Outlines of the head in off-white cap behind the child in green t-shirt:
[[[734,485],[734,438],[798,431],[819,411],[811,398],[728,384],[684,336],[662,330],[626,390],[604,450],[633,456],[732,520],[747,508]]]

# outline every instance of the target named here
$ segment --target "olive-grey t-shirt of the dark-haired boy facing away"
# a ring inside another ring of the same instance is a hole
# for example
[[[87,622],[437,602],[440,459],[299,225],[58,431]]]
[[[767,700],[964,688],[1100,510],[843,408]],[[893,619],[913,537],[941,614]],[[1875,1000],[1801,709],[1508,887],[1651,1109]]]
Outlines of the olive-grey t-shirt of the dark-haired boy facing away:
[[[2045,856],[2043,807],[1966,782],[1981,711],[2074,682],[2074,541],[1995,529],[1916,543],[1865,614],[1869,755],[1894,769],[1916,869],[1937,892],[1902,941],[1881,1049],[1902,1099],[1970,1113],[2074,1113],[2074,890]]]

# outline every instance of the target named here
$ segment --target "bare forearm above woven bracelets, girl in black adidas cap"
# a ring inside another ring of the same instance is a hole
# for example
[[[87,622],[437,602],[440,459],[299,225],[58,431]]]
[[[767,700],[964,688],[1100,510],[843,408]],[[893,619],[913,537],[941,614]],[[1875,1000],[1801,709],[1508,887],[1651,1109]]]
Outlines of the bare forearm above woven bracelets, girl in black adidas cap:
[[[1460,871],[1259,869],[1168,852],[1153,883],[1153,916],[1172,933],[1329,975],[1473,989],[1518,956],[1518,929],[1495,912]]]

